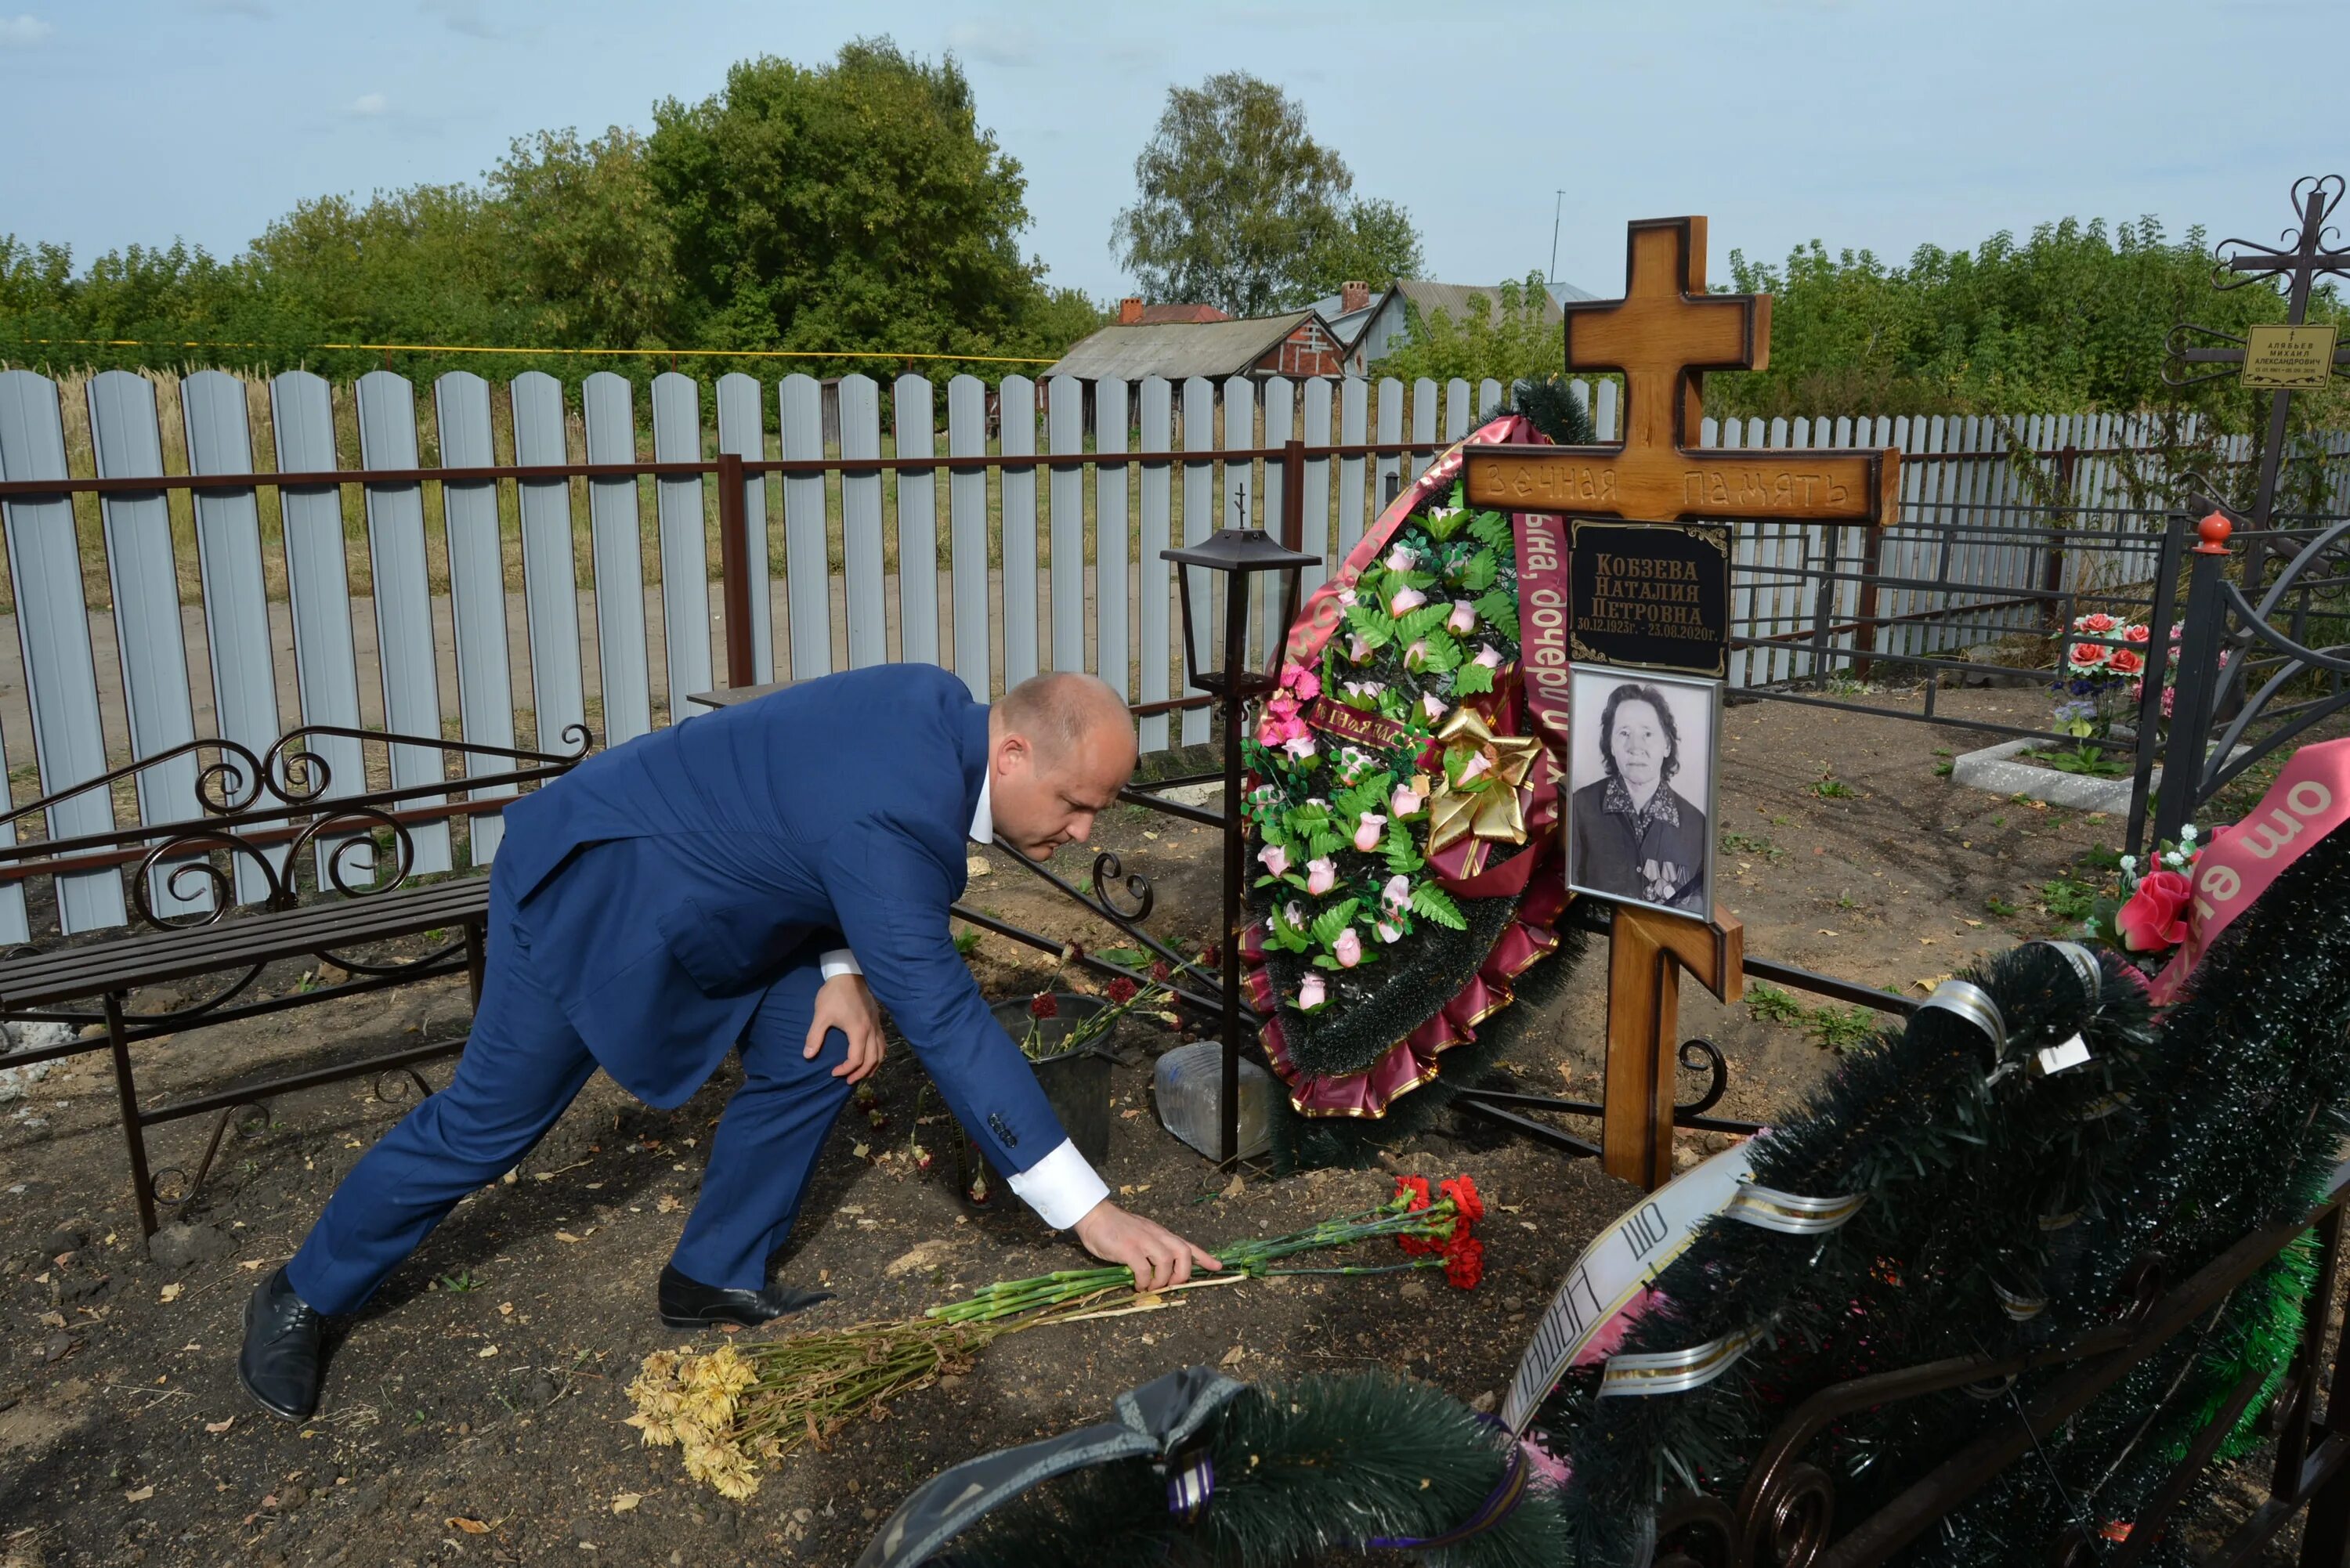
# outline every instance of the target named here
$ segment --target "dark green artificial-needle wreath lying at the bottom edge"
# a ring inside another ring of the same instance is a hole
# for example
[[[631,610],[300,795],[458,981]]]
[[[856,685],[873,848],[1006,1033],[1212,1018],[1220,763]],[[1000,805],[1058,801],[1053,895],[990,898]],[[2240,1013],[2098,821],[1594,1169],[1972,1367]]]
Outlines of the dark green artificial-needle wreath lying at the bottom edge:
[[[1278,1568],[1349,1552],[1365,1537],[1443,1535],[1492,1495],[1509,1458],[1509,1441],[1450,1394],[1391,1373],[1253,1387],[1210,1420],[1208,1434],[1215,1493],[1194,1526],[1168,1514],[1166,1476],[1149,1460],[1123,1460],[1043,1483],[935,1561]],[[1492,1530],[1417,1561],[1556,1568],[1565,1552],[1556,1493],[1530,1486]]]

